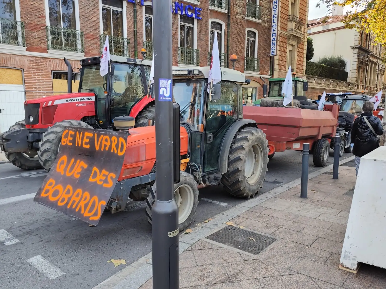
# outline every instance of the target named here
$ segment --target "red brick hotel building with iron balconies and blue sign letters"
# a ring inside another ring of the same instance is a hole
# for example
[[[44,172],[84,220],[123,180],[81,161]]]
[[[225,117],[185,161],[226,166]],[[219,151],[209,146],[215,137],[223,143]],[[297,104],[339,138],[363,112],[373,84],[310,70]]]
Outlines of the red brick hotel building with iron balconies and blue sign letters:
[[[3,0],[0,84],[9,91],[20,86],[15,90],[27,99],[66,92],[63,56],[80,67],[80,59],[100,55],[105,35],[111,54],[141,58],[145,47],[151,59],[152,2],[133,2]],[[229,55],[236,54],[235,69],[252,80],[244,94],[262,96],[260,76],[269,77],[270,1],[180,0],[172,11],[174,66],[207,66],[217,30],[221,65],[232,67]]]

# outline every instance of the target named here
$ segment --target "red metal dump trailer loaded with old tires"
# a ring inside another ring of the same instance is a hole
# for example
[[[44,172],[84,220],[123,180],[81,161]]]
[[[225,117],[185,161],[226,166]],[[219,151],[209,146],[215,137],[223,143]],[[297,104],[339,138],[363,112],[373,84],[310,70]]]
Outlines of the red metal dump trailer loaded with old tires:
[[[269,158],[285,150],[301,151],[303,143],[310,143],[313,163],[325,166],[336,132],[339,105],[326,104],[324,109],[243,106],[243,114],[245,119],[256,121],[267,135]]]

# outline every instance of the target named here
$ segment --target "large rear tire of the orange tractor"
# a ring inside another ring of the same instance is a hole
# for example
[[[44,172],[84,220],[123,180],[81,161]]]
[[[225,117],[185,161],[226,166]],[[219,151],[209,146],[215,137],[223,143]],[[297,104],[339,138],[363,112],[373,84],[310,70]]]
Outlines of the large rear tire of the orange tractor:
[[[255,127],[240,129],[229,150],[228,171],[221,182],[224,190],[237,198],[253,198],[268,170],[268,141]]]

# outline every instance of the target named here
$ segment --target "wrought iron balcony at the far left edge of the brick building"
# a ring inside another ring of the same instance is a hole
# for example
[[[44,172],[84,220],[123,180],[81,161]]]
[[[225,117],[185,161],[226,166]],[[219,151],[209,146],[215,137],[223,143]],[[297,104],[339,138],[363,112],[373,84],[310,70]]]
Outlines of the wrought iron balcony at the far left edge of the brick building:
[[[0,18],[0,44],[25,47],[24,22]]]

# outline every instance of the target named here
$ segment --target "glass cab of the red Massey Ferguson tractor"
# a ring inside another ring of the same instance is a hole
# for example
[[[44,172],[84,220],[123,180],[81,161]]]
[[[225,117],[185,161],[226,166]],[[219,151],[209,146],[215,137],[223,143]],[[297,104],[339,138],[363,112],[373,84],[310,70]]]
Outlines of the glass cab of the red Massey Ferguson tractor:
[[[78,92],[92,92],[96,95],[95,114],[98,125],[108,128],[116,116],[137,114],[152,101],[149,99],[150,60],[139,60],[110,55],[108,74],[100,75],[100,58],[90,57],[80,61],[80,84]],[[138,102],[144,105],[132,111]],[[137,111],[138,110],[138,111]]]

